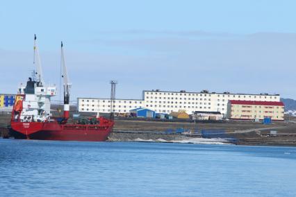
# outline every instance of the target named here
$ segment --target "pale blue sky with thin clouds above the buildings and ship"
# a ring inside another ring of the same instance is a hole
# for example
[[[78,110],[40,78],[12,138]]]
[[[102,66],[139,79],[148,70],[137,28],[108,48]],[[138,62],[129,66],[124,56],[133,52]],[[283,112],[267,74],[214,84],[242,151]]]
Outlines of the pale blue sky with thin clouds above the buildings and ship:
[[[0,92],[16,93],[38,37],[44,80],[71,100],[142,90],[270,93],[296,99],[296,1],[1,1]],[[54,100],[60,99],[56,96]]]

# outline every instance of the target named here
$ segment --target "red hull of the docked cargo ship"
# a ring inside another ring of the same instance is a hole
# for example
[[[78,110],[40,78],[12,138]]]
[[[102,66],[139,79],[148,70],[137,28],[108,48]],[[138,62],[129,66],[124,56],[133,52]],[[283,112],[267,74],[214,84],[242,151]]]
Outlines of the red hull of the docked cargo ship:
[[[103,125],[60,124],[56,121],[45,123],[12,122],[10,133],[15,139],[104,142],[110,134],[113,124],[114,122],[110,120],[108,120],[108,124]]]

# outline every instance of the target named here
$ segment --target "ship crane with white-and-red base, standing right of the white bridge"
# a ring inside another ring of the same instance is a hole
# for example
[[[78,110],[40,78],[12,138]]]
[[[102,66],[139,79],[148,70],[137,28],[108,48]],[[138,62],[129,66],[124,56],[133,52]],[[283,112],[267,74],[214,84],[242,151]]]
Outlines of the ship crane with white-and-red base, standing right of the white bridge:
[[[69,119],[69,98],[70,98],[70,88],[72,86],[71,83],[69,83],[69,78],[67,74],[67,67],[65,62],[65,55],[63,51],[63,42],[60,42],[60,49],[61,49],[61,69],[62,69],[62,78],[64,83],[64,119]]]

